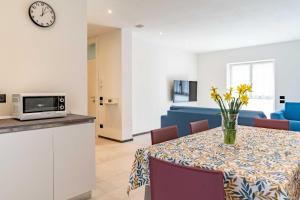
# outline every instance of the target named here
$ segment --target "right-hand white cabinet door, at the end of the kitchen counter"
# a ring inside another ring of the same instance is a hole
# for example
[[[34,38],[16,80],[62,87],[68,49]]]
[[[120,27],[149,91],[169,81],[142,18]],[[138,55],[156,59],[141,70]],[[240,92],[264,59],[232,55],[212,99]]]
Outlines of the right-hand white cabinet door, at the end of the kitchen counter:
[[[54,128],[54,200],[66,200],[95,186],[95,124]]]

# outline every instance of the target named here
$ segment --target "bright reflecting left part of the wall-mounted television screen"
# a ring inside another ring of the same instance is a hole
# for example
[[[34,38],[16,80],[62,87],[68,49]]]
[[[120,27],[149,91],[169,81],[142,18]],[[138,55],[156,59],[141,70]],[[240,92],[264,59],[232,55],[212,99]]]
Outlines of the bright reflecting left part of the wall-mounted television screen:
[[[175,80],[173,87],[173,101],[188,102],[189,90],[189,81]]]

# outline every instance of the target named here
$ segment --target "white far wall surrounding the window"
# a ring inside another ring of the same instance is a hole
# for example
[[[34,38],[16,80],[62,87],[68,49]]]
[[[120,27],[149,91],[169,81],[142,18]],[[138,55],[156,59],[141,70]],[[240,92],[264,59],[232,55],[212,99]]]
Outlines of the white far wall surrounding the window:
[[[300,41],[211,52],[198,55],[198,100],[200,105],[215,107],[210,99],[211,86],[226,90],[226,67],[228,63],[275,59],[276,109],[279,96],[286,101],[300,101],[297,90],[300,78]]]

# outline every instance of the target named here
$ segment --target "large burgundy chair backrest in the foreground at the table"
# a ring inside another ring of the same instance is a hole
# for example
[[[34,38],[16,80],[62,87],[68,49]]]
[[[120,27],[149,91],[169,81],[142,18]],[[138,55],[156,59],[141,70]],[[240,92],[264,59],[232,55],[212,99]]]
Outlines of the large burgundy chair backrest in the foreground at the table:
[[[224,200],[223,173],[150,157],[151,200]]]

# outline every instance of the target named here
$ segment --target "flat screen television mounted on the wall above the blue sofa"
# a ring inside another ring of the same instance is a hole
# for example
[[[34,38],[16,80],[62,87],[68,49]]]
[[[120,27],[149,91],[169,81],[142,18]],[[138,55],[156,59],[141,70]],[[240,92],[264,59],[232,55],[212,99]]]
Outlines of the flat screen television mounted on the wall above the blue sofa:
[[[173,102],[197,101],[197,81],[175,80]]]

